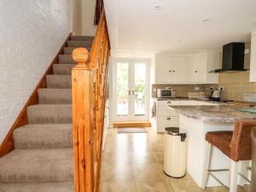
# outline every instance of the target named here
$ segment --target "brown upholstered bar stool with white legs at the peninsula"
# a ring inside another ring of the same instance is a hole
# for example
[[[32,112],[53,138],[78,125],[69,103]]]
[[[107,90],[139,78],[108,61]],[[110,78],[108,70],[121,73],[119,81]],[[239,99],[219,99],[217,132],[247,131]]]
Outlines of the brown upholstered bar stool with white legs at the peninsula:
[[[250,182],[247,177],[238,172],[238,162],[241,160],[252,160],[252,147],[251,147],[251,129],[256,126],[256,120],[240,120],[236,122],[234,131],[212,131],[206,134],[206,159],[205,159],[205,186],[207,185],[207,178],[209,174],[214,177],[218,183],[220,182],[212,172],[230,171],[230,192],[237,191],[237,177],[240,175],[245,178],[247,182]],[[223,170],[209,170],[211,160],[211,148],[212,146],[218,148],[221,152],[227,155],[231,160],[231,166],[229,169]]]

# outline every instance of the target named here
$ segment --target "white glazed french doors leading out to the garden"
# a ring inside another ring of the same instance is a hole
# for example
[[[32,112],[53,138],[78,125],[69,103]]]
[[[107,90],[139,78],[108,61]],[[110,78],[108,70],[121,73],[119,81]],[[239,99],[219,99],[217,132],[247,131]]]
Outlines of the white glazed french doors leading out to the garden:
[[[148,120],[149,61],[119,59],[114,65],[115,120]]]

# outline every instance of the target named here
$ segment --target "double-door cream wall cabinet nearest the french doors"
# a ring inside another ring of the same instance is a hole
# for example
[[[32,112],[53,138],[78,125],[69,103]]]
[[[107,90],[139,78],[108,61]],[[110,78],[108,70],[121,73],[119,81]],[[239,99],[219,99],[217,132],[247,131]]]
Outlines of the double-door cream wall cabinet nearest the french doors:
[[[157,56],[155,63],[155,83],[181,84],[187,81],[187,57]]]

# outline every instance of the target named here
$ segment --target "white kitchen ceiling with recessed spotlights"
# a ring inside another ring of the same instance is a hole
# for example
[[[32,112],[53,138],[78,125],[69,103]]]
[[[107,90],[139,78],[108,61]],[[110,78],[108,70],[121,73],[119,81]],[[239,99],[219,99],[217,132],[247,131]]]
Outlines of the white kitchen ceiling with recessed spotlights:
[[[256,30],[256,0],[105,0],[113,49],[221,49]],[[160,4],[162,9],[154,10]],[[209,19],[203,22],[203,19]]]

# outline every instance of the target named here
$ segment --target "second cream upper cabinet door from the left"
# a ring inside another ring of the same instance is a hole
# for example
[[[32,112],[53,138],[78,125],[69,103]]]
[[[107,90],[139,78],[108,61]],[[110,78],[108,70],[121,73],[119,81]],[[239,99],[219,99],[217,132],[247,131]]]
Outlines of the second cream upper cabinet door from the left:
[[[172,56],[172,83],[187,82],[187,56]]]

